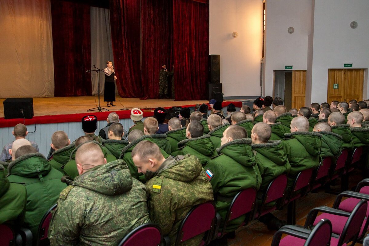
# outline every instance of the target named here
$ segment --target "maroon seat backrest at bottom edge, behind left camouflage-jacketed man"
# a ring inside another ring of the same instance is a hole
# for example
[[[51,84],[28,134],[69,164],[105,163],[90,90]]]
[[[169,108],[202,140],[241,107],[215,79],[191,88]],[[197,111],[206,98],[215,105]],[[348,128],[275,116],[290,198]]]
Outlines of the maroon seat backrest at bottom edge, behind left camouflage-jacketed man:
[[[159,246],[162,242],[162,235],[159,226],[146,223],[137,226],[128,233],[118,244],[118,246]]]

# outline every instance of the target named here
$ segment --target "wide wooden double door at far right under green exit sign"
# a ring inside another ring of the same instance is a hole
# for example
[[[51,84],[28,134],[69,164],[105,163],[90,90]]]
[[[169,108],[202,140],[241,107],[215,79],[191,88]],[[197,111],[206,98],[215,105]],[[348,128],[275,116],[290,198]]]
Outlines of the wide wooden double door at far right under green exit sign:
[[[362,101],[363,82],[364,69],[329,69],[327,102]]]

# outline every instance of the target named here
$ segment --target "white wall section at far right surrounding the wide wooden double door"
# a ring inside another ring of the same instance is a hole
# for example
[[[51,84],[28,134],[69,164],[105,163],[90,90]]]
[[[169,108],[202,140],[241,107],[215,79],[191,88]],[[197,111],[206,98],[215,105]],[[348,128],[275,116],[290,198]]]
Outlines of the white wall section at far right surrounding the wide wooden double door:
[[[312,92],[307,102],[327,100],[329,68],[343,68],[344,62],[352,62],[352,68],[369,67],[368,13],[368,0],[315,0]],[[356,29],[350,27],[351,21],[358,22]],[[367,81],[365,76],[364,99]]]

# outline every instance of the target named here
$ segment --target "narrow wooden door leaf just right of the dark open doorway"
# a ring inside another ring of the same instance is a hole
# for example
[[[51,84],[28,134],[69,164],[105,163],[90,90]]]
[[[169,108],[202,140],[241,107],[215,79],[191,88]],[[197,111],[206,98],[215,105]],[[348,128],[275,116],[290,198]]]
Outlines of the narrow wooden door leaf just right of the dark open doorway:
[[[305,106],[306,70],[292,71],[292,108]]]

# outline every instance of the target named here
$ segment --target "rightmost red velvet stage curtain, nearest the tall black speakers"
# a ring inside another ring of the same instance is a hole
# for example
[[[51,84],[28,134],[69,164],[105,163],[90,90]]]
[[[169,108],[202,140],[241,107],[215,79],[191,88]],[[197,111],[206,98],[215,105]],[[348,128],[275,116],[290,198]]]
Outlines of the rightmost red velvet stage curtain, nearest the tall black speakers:
[[[173,44],[176,101],[204,99],[208,80],[208,3],[173,0]]]

